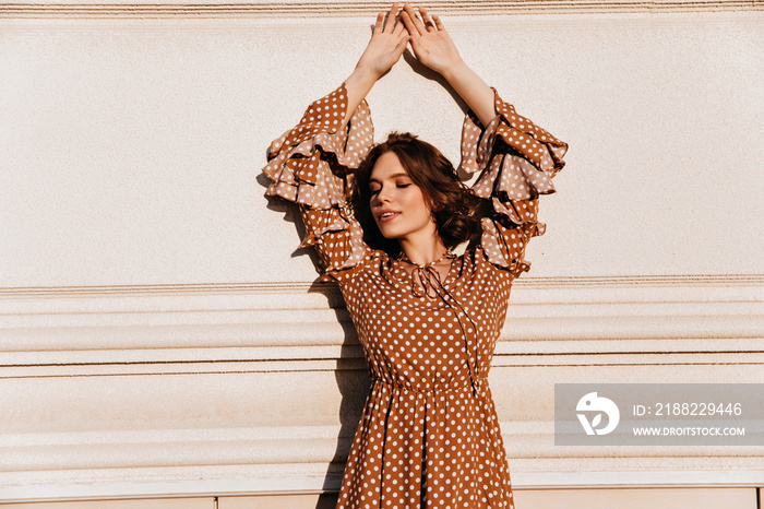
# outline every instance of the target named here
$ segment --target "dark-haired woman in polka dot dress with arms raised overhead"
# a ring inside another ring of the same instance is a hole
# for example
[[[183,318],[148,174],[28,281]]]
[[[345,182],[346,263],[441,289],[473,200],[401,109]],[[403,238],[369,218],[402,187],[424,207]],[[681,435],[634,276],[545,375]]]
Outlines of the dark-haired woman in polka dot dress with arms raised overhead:
[[[525,246],[542,233],[537,197],[553,192],[566,145],[501,100],[437,16],[396,14],[378,16],[355,71],[273,142],[264,168],[268,194],[300,205],[303,245],[339,284],[371,372],[337,508],[512,508],[487,376]],[[461,165],[482,171],[471,190],[410,134],[369,153],[365,96],[408,44],[471,110]]]

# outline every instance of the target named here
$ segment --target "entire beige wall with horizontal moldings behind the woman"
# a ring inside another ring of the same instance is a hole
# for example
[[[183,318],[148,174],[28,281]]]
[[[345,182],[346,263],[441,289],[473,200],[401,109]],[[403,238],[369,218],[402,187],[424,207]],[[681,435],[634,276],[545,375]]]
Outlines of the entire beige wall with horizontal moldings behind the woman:
[[[0,4],[0,500],[336,489],[362,355],[258,179],[381,9],[321,4]],[[764,448],[553,446],[554,382],[764,382],[764,7],[688,5],[431,4],[571,144],[491,379],[533,507],[764,485]],[[457,158],[416,68],[369,103]]]

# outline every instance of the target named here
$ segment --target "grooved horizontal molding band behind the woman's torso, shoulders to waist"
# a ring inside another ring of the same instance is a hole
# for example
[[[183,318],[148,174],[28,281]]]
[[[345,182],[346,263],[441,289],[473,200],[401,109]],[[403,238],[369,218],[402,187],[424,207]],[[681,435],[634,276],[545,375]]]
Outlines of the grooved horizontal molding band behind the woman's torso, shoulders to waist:
[[[763,339],[761,275],[529,277],[494,366],[759,365]],[[365,369],[318,283],[3,288],[0,344],[0,378]]]

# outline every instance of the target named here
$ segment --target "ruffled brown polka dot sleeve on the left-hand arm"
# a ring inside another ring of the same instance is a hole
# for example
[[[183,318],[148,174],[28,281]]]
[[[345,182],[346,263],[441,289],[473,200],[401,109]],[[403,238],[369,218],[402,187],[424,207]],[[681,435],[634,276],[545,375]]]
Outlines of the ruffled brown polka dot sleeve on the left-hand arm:
[[[373,140],[366,102],[347,126],[347,91],[343,83],[313,102],[300,122],[268,147],[263,173],[266,194],[300,206],[306,226],[302,246],[314,246],[322,259],[321,281],[338,280],[369,253],[363,232],[347,200],[348,170],[357,168]]]

